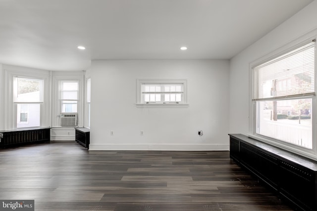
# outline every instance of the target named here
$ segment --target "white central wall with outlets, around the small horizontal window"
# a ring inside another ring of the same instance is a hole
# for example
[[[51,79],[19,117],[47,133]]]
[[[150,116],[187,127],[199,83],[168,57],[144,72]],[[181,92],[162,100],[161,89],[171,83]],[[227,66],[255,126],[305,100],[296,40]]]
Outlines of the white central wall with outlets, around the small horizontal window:
[[[228,74],[227,60],[92,61],[90,149],[228,150]],[[137,108],[137,79],[187,79],[189,107]]]

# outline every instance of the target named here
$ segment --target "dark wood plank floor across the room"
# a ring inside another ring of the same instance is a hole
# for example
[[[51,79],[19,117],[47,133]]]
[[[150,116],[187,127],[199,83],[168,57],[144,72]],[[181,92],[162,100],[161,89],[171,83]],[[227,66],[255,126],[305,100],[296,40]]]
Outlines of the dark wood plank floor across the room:
[[[87,151],[73,142],[0,150],[0,199],[37,211],[289,211],[229,152]]]

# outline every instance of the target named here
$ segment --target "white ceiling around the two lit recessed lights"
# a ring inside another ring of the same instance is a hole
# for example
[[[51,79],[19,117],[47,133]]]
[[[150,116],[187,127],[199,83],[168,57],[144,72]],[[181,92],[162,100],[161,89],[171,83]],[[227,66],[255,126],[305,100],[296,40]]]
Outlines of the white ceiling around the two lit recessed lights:
[[[312,1],[0,0],[0,63],[86,70],[95,59],[230,59]]]

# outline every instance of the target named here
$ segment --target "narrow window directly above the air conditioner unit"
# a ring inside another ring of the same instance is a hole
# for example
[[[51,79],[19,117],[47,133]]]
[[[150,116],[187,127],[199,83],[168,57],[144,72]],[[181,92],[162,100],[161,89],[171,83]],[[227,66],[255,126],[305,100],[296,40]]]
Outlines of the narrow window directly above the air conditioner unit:
[[[78,82],[61,81],[60,100],[62,113],[77,113]]]

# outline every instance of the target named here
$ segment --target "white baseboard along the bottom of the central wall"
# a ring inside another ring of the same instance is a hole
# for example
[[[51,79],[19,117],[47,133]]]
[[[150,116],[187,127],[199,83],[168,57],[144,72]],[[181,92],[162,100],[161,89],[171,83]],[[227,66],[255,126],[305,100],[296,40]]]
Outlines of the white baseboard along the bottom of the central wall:
[[[90,144],[89,150],[159,150],[159,151],[229,151],[227,144],[209,144],[209,145],[107,145]]]

